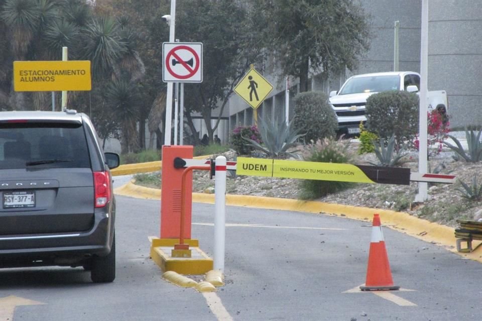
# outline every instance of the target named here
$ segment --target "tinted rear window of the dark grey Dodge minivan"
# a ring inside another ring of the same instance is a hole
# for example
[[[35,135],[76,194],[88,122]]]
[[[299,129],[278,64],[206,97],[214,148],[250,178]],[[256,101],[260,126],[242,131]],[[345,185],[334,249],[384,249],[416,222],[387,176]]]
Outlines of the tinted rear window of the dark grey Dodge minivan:
[[[0,124],[0,169],[90,168],[81,124]]]

